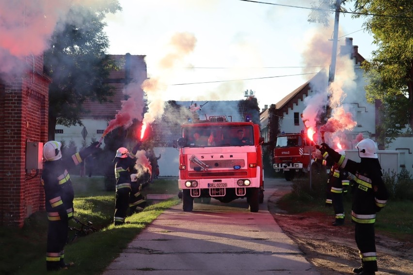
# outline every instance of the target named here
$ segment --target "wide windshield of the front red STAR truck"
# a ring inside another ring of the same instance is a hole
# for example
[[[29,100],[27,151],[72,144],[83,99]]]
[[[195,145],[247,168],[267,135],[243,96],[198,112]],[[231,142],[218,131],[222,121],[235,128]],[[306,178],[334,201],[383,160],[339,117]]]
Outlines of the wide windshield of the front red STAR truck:
[[[187,147],[254,145],[252,125],[186,126],[181,134]]]

